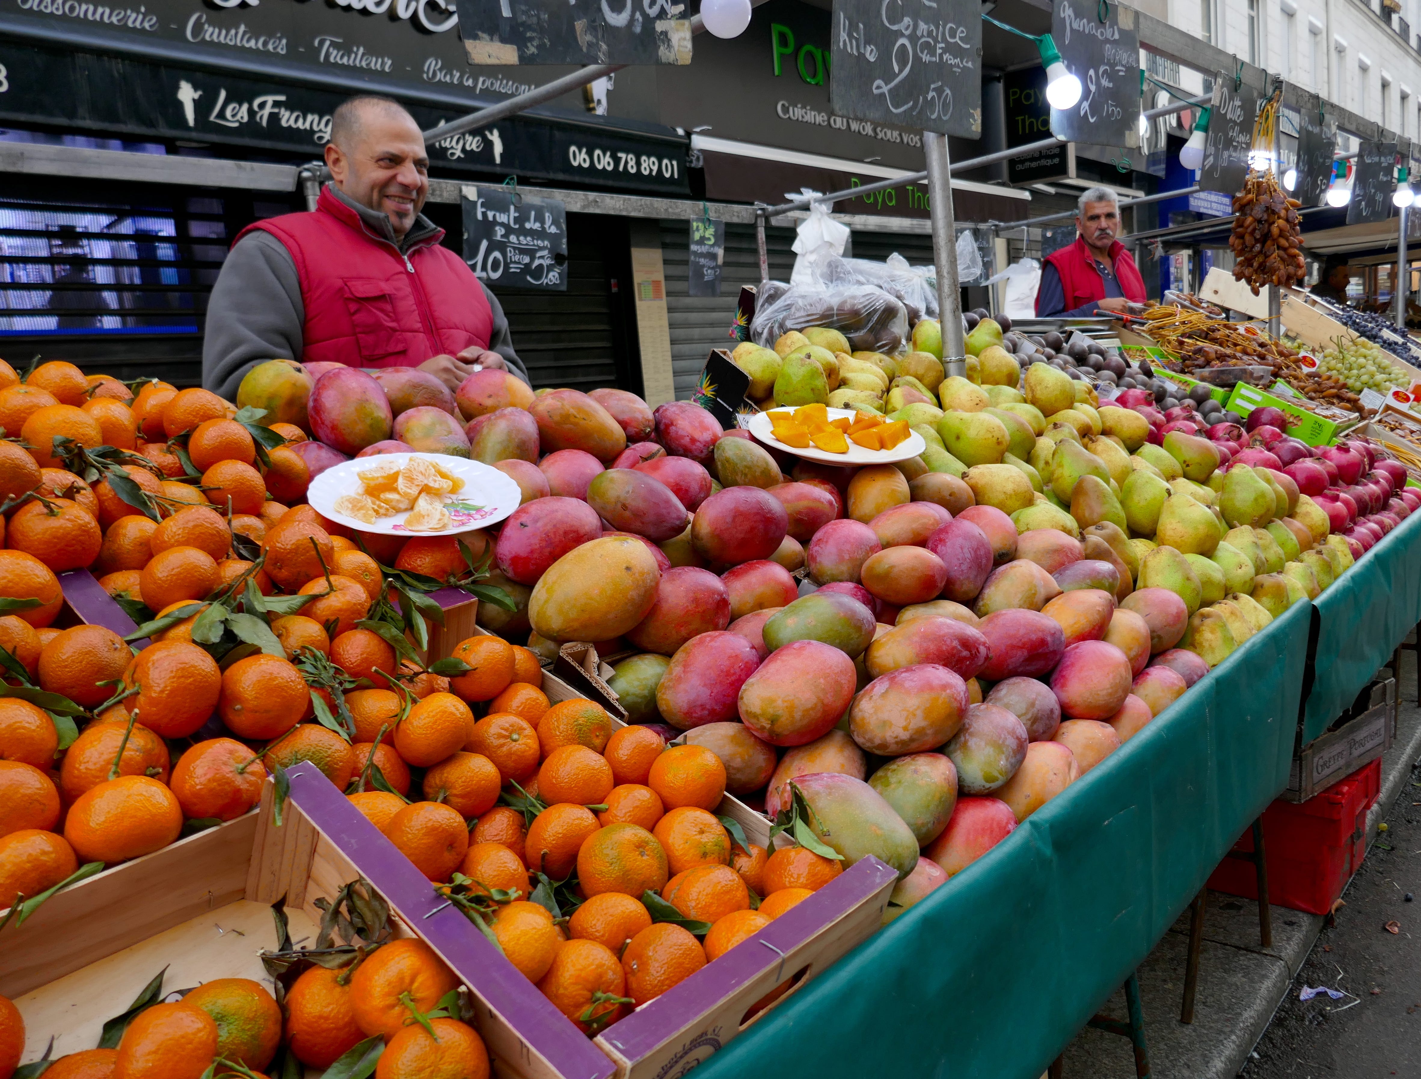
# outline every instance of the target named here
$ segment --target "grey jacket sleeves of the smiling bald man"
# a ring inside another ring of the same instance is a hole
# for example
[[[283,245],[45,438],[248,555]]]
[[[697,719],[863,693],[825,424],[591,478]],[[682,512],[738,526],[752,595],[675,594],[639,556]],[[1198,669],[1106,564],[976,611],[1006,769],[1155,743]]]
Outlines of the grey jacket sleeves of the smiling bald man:
[[[513,351],[509,320],[489,287],[479,281],[493,313],[489,348],[509,370],[529,381]],[[202,384],[219,397],[236,399],[242,378],[264,360],[300,360],[306,306],[291,253],[269,232],[250,232],[229,253],[207,300],[202,343]]]

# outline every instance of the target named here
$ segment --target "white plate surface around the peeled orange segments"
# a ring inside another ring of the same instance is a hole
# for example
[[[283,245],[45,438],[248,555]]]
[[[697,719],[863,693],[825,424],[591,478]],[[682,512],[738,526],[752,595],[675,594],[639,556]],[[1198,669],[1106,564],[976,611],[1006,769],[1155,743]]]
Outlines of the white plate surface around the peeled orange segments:
[[[459,502],[479,506],[476,510],[455,509],[449,506],[449,516],[453,525],[439,532],[411,532],[405,527],[405,517],[409,510],[381,517],[374,525],[367,525],[355,517],[335,512],[335,499],[341,495],[360,495],[364,492],[358,472],[364,472],[375,465],[396,462],[401,468],[411,458],[423,458],[439,465],[450,475],[463,481],[463,490],[459,492]],[[466,458],[446,456],[445,453],[378,453],[369,458],[355,458],[333,465],[311,481],[306,492],[307,500],[323,517],[330,517],[337,525],[358,529],[360,532],[374,532],[379,536],[455,536],[460,532],[473,532],[496,525],[519,508],[523,492],[512,478],[506,476],[492,465],[485,465]]]

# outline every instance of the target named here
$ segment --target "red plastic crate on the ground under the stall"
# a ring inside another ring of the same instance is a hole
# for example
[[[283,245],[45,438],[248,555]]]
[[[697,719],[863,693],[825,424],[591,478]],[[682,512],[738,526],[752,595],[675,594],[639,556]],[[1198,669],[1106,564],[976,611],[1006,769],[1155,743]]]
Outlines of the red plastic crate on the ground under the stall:
[[[1373,761],[1316,798],[1277,800],[1263,810],[1269,900],[1309,914],[1331,910],[1367,853],[1367,810],[1380,793],[1381,761]],[[1252,853],[1252,830],[1233,849]],[[1209,887],[1258,898],[1253,863],[1223,859],[1209,876]]]

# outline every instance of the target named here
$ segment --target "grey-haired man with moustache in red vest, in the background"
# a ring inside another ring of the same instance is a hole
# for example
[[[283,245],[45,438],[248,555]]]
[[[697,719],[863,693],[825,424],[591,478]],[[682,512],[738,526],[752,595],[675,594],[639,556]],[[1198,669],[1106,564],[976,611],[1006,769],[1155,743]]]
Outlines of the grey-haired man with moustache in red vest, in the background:
[[[1145,283],[1115,239],[1120,202],[1110,188],[1091,188],[1076,203],[1076,242],[1047,256],[1036,289],[1037,318],[1080,318],[1144,303]]]

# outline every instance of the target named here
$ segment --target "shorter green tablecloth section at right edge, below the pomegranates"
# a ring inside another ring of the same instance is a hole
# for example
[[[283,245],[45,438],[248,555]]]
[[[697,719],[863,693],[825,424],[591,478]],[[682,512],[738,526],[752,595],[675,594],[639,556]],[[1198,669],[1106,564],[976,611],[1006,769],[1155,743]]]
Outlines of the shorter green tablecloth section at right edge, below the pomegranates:
[[[1317,627],[1309,648],[1303,745],[1351,705],[1421,621],[1421,513],[1393,529],[1313,606]]]

